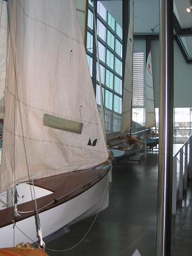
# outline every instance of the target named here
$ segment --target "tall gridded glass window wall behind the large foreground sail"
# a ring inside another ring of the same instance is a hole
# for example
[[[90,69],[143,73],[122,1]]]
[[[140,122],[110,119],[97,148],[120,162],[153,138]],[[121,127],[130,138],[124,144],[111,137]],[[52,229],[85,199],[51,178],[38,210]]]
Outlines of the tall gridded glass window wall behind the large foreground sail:
[[[87,56],[93,76],[93,3],[88,1]],[[106,132],[120,131],[122,114],[122,28],[104,5],[97,2],[97,38],[100,74],[106,117]],[[96,100],[100,105],[99,75],[96,75]]]

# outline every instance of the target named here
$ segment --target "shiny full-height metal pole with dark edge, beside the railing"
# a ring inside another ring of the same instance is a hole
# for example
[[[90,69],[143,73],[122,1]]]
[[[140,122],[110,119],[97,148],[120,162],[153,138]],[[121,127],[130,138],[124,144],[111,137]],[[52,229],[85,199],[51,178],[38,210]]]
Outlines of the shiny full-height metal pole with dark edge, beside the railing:
[[[173,180],[173,0],[160,0],[157,256],[170,256]]]

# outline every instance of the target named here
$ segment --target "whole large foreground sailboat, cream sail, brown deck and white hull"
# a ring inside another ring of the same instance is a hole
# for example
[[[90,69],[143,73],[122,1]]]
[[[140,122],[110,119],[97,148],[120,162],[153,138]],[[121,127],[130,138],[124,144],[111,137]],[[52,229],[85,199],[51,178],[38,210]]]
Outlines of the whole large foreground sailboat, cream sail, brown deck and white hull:
[[[111,170],[74,1],[8,0],[8,23],[0,247],[106,208]]]

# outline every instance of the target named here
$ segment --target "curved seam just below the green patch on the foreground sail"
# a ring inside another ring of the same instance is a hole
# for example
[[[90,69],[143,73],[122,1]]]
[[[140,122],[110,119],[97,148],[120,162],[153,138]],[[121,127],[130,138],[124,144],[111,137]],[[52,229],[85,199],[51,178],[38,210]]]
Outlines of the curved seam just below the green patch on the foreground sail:
[[[97,150],[97,149],[93,149],[92,147],[89,147],[89,148],[86,148],[86,147],[77,147],[77,146],[74,146],[74,145],[68,145],[68,144],[64,144],[64,143],[59,143],[59,142],[56,142],[56,141],[51,141],[51,140],[40,140],[40,139],[35,139],[35,138],[30,138],[28,136],[22,136],[20,134],[16,134],[10,130],[8,130],[6,127],[4,127],[4,131],[12,134],[12,135],[15,135],[19,138],[25,138],[25,139],[28,139],[28,140],[31,140],[31,141],[42,141],[42,142],[45,142],[45,143],[54,143],[56,145],[60,145],[60,146],[63,146],[63,147],[72,147],[72,148],[79,148],[79,149],[84,149],[84,150],[92,150],[93,152],[101,152],[101,153],[104,153],[104,151],[102,150]]]

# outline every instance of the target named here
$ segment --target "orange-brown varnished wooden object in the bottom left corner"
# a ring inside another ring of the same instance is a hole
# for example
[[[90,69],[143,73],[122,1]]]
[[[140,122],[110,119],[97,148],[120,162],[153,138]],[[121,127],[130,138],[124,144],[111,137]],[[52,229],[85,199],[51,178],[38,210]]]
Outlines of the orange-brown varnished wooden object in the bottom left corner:
[[[0,249],[0,256],[47,256],[42,249],[34,248],[30,243],[20,243],[16,247]]]

